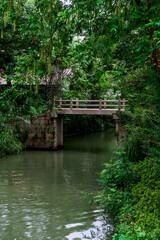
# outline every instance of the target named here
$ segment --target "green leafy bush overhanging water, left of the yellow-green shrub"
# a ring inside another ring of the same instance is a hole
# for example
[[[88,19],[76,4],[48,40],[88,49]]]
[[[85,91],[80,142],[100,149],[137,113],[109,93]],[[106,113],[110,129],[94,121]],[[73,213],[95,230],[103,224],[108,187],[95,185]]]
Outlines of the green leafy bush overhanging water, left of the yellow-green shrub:
[[[98,195],[98,201],[104,209],[111,211],[116,221],[126,221],[134,215],[131,185],[134,183],[132,162],[126,158],[124,151],[116,152],[119,157],[114,163],[105,164],[101,172],[100,185],[103,190]]]

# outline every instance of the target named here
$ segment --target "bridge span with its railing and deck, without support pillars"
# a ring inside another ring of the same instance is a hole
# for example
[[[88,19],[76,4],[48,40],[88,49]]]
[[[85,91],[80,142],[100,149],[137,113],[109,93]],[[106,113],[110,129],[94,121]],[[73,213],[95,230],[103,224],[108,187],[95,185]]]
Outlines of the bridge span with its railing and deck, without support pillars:
[[[58,99],[53,101],[53,111],[57,111],[60,115],[75,114],[75,115],[112,115],[117,111],[125,110],[123,100],[64,100]]]

